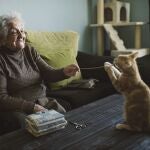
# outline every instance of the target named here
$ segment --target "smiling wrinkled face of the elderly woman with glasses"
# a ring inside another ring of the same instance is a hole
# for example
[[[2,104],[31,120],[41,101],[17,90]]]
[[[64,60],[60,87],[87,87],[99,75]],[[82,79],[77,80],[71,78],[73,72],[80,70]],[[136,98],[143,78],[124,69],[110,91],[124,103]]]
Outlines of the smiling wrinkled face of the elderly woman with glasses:
[[[5,46],[12,51],[19,51],[25,47],[25,39],[23,25],[18,20],[10,22]]]

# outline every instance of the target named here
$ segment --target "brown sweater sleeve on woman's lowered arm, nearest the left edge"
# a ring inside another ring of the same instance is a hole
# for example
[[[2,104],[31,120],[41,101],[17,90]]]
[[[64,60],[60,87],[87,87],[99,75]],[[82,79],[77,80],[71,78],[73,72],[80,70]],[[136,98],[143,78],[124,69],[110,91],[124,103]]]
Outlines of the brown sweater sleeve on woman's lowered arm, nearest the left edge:
[[[33,102],[9,95],[7,91],[6,75],[0,65],[0,111],[21,111],[32,113],[34,105]]]

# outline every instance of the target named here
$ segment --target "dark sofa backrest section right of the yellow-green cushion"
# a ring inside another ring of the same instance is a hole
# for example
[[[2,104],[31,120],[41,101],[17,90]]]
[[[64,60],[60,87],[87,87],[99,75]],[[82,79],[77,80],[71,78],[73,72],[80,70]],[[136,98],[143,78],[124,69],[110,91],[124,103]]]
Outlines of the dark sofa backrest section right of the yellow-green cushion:
[[[107,61],[112,63],[113,59],[114,58],[111,56],[94,56],[80,51],[77,56],[77,62],[80,68],[104,66],[104,62]],[[95,78],[99,81],[110,81],[103,67],[89,70],[81,69],[81,73],[85,79]]]

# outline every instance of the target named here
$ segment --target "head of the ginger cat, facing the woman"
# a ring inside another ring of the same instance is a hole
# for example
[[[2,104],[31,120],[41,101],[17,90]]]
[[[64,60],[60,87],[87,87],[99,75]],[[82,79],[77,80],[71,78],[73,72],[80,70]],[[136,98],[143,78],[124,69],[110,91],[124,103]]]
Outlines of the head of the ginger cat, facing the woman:
[[[132,53],[129,55],[119,55],[114,59],[114,65],[120,70],[125,71],[132,67],[135,63],[135,59],[137,58],[138,53]]]

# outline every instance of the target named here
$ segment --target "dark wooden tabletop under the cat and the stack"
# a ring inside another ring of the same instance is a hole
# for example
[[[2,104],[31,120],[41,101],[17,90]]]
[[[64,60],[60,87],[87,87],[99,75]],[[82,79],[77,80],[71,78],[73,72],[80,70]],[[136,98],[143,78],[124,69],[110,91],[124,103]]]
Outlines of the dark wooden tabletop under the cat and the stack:
[[[67,120],[87,123],[84,129],[68,124],[39,138],[20,129],[0,137],[0,150],[149,150],[150,134],[115,129],[122,107],[122,96],[109,96],[66,113]]]

